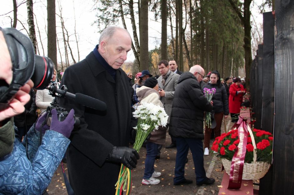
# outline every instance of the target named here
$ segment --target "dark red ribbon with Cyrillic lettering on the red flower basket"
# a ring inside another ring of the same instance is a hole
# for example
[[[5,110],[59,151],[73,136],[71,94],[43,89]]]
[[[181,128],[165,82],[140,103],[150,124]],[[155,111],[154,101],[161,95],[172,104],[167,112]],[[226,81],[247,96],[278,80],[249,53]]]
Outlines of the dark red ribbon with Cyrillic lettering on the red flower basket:
[[[232,159],[228,189],[241,188],[244,159],[246,154],[246,145],[248,137],[247,122],[242,117],[239,117],[239,121],[236,125],[239,125],[238,137],[240,142],[236,148],[235,154]]]

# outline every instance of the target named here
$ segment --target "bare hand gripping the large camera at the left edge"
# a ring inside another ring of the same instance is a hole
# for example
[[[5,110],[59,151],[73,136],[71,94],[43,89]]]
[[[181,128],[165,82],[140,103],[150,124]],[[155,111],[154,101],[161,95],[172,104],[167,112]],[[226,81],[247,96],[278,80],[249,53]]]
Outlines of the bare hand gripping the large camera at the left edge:
[[[24,105],[31,98],[28,93],[30,92],[31,88],[33,88],[33,85],[33,81],[29,80],[28,83],[24,84],[23,87],[18,90],[12,101],[8,103],[8,107],[0,110],[0,121],[14,117],[24,112]]]

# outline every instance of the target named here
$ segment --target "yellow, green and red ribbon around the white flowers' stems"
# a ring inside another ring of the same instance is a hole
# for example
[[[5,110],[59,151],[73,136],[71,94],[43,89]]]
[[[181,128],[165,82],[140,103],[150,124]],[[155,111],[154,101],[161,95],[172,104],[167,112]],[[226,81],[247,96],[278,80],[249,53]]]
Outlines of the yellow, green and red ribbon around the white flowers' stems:
[[[127,170],[127,175],[122,175],[123,173],[125,173],[124,169]],[[121,164],[120,171],[119,171],[119,178],[118,178],[119,182],[117,183],[117,186],[116,186],[115,195],[122,194],[124,186],[126,185],[126,183],[123,183],[125,177],[128,178],[126,195],[129,195],[132,189],[132,170],[130,170],[129,168],[126,168],[123,164]]]

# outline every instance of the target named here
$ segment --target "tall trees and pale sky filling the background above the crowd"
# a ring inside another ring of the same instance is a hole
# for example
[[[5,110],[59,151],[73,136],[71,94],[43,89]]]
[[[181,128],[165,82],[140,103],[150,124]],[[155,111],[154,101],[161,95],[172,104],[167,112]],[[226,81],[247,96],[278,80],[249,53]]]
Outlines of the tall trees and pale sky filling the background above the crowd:
[[[263,40],[261,13],[271,10],[274,0],[1,0],[0,25],[30,36],[59,73],[94,49],[105,26],[118,25],[132,37],[126,73],[159,74],[158,62],[167,59],[181,71],[200,64],[205,73],[249,83]]]

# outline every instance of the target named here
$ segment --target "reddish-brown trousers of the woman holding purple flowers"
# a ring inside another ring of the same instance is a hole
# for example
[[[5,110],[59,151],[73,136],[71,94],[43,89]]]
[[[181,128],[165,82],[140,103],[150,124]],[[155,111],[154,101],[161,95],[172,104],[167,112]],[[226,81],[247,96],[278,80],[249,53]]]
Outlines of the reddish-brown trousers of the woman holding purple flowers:
[[[214,114],[214,120],[216,122],[216,126],[214,129],[208,128],[205,126],[205,133],[204,133],[204,148],[209,148],[210,144],[210,137],[211,137],[211,132],[214,130],[214,137],[221,136],[221,123],[224,117],[224,113],[215,113]]]

